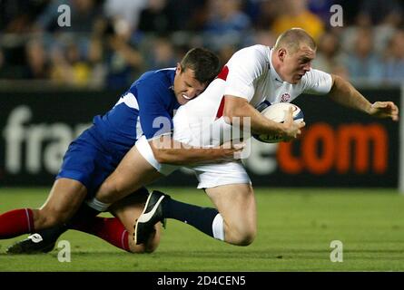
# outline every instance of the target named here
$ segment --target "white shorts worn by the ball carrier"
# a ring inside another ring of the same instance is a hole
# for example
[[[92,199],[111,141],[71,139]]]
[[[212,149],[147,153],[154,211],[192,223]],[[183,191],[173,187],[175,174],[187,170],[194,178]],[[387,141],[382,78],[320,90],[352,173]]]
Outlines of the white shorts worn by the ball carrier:
[[[137,150],[142,154],[154,169],[167,176],[181,166],[159,163],[155,160],[153,150],[149,141],[143,136],[136,142]],[[241,164],[241,160],[223,163],[209,163],[203,165],[189,166],[195,172],[199,181],[198,189],[211,189],[222,185],[248,183],[250,177]]]

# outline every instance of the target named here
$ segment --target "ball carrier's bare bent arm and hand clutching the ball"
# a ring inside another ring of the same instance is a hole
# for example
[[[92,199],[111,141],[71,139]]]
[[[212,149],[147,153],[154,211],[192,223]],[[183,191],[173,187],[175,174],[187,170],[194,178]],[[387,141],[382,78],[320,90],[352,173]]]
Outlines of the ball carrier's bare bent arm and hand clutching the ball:
[[[301,134],[301,128],[304,127],[304,122],[297,123],[293,121],[292,111],[288,113],[286,121],[283,123],[271,121],[263,117],[260,111],[257,111],[245,98],[232,95],[224,96],[223,116],[225,121],[233,124],[235,121],[244,123],[244,118],[250,118],[251,132],[255,134],[277,134],[283,136],[283,140],[291,140]]]

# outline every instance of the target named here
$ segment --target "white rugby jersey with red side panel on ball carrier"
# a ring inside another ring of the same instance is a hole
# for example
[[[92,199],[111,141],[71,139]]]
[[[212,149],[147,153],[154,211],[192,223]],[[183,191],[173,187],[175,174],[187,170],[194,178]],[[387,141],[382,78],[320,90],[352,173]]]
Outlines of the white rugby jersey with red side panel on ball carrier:
[[[246,98],[256,108],[264,101],[291,102],[303,92],[325,94],[331,85],[329,73],[314,69],[297,84],[282,82],[271,64],[270,47],[241,49],[201,95],[178,109],[173,118],[173,138],[192,146],[217,146],[229,140],[223,138],[223,132],[232,131],[222,118],[224,95]]]

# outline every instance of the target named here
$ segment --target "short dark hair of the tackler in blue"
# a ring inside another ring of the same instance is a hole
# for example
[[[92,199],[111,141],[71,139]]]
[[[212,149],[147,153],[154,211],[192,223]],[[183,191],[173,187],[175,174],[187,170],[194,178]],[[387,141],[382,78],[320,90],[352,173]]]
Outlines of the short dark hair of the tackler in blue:
[[[195,79],[201,83],[212,82],[220,73],[219,57],[205,48],[192,48],[181,61],[181,69],[191,69],[195,73]]]

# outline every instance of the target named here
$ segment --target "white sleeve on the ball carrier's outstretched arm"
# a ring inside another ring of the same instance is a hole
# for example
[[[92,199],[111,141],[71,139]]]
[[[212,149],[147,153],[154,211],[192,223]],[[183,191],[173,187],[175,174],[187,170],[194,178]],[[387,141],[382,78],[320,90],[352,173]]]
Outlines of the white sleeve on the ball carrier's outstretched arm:
[[[319,70],[311,69],[310,72],[304,74],[303,92],[311,94],[326,94],[329,93],[332,86],[332,77],[330,73],[324,73]]]

